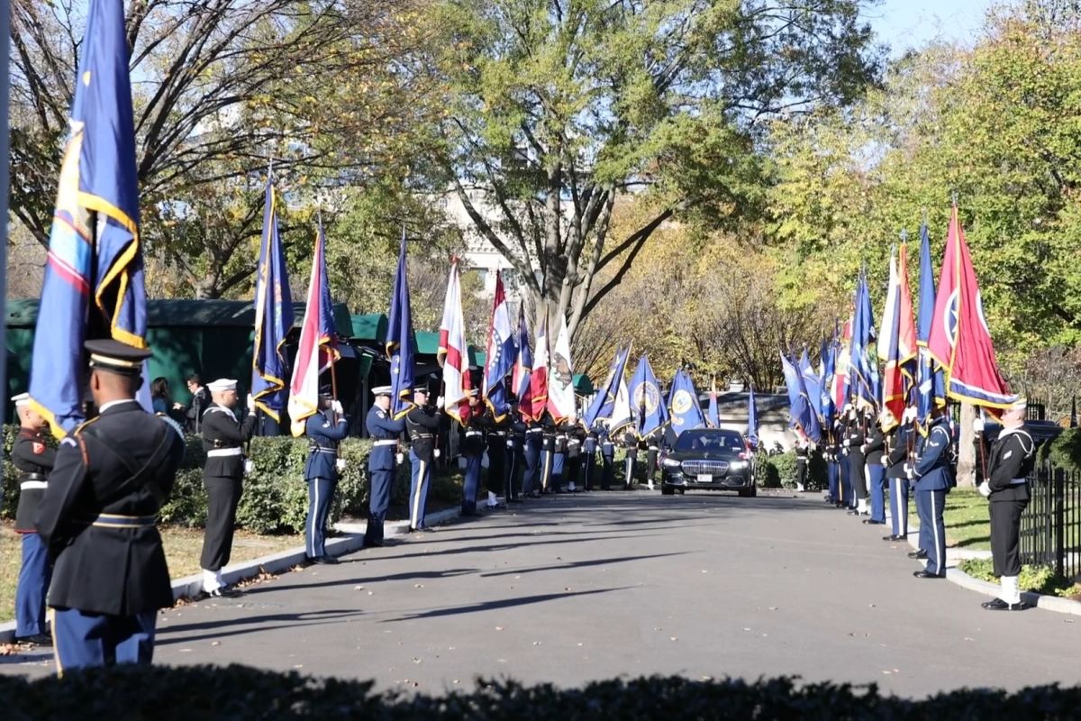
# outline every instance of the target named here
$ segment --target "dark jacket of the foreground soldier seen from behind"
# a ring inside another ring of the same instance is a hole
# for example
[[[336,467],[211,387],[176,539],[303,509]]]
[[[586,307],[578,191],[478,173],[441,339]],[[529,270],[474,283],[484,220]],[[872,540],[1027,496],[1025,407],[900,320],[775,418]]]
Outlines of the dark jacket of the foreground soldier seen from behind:
[[[173,605],[154,520],[183,460],[177,430],[134,400],[64,439],[38,517],[55,560],[50,605],[115,616]]]

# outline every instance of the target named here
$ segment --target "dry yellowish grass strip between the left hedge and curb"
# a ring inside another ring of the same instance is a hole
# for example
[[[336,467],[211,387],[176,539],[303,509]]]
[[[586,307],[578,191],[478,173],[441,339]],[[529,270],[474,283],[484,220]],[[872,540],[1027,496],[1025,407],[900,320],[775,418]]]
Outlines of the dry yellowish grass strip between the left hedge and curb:
[[[9,521],[0,522],[0,622],[15,617],[15,585],[22,563],[22,539]],[[165,546],[165,559],[173,578],[199,572],[199,553],[202,550],[202,530],[178,526],[159,526]],[[261,536],[238,530],[232,539],[230,563],[250,561],[288,548],[304,545],[303,536]]]

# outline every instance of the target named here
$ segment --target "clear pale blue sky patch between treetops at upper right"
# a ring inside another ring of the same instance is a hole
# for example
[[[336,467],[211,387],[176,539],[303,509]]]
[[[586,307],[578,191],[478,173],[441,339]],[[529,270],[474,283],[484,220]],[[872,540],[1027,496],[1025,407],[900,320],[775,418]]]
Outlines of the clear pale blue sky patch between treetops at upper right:
[[[972,44],[980,35],[984,15],[996,0],[885,0],[865,11],[880,41],[893,56],[940,38]]]

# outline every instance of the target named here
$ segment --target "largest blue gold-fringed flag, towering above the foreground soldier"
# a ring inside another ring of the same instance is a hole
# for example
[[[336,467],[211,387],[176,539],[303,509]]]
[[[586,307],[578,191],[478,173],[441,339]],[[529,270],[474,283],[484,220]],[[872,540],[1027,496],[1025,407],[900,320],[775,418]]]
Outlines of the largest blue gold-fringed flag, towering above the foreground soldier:
[[[122,0],[91,2],[81,51],[30,369],[32,402],[57,436],[83,420],[83,342],[147,345]]]

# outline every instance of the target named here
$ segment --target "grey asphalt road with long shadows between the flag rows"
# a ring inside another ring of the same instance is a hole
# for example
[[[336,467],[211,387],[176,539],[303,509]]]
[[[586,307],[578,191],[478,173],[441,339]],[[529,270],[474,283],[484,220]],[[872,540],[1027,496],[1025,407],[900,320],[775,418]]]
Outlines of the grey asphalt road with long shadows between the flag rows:
[[[164,612],[156,662],[438,694],[476,677],[796,675],[920,698],[1081,683],[1081,617],[983,611],[817,497],[547,497]],[[49,657],[0,672],[51,671]]]

